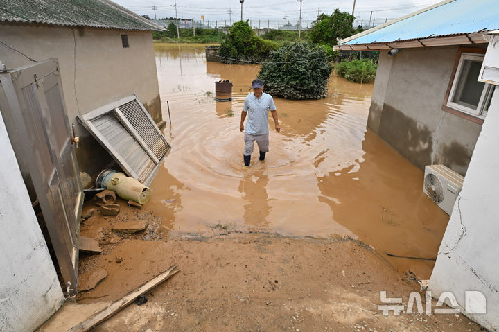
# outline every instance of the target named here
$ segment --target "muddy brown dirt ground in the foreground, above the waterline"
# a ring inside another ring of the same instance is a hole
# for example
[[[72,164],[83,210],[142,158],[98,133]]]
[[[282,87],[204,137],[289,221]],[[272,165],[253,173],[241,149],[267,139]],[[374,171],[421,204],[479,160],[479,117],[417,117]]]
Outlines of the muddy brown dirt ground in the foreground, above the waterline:
[[[150,291],[146,304],[130,304],[93,331],[480,331],[463,315],[383,316],[380,291],[407,306],[419,284],[360,241],[240,233],[227,225],[163,238],[161,220],[120,204],[119,216],[96,211],[82,225],[103,252],[83,254],[80,275],[103,269],[107,277],[79,293],[73,312],[90,315],[171,265],[180,272]],[[150,223],[119,234],[111,228],[121,219]],[[75,317],[55,315],[40,331],[67,329]]]

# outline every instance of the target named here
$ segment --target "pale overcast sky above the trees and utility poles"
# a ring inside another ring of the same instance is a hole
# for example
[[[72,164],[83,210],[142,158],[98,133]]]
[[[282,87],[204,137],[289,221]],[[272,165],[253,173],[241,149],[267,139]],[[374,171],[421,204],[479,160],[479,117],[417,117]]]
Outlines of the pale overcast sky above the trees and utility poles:
[[[114,0],[121,6],[137,12],[139,15],[149,15],[154,19],[153,6],[157,8],[157,19],[163,17],[175,17],[175,0],[143,1],[143,0]],[[403,15],[410,14],[439,1],[434,0],[356,0],[354,15],[358,19],[369,20],[372,17],[377,20],[388,21]],[[303,0],[301,19],[313,21],[317,18],[317,10],[321,13],[331,14],[335,8],[351,12],[353,0]],[[243,19],[261,20],[285,20],[299,19],[300,3],[298,0],[245,0],[243,3]],[[179,18],[209,21],[229,21],[229,9],[231,19],[240,19],[240,3],[238,0],[177,0],[177,14]]]

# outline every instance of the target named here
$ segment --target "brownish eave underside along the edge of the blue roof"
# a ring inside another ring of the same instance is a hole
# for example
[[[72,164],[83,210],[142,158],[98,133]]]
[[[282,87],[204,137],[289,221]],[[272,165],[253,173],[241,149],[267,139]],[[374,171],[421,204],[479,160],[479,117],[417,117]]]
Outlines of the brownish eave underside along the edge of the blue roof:
[[[392,42],[376,42],[370,44],[335,45],[335,51],[380,51],[383,49],[410,49],[430,46],[452,46],[464,44],[486,43],[484,33],[462,33],[439,37],[417,38],[414,40],[396,40]]]

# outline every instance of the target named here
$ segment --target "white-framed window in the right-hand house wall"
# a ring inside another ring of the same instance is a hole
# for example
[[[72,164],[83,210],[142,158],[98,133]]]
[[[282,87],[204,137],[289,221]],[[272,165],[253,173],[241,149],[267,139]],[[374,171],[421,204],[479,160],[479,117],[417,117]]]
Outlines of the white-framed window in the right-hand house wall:
[[[461,54],[447,101],[448,107],[481,119],[487,115],[494,88],[493,85],[478,82],[483,59],[482,54]]]

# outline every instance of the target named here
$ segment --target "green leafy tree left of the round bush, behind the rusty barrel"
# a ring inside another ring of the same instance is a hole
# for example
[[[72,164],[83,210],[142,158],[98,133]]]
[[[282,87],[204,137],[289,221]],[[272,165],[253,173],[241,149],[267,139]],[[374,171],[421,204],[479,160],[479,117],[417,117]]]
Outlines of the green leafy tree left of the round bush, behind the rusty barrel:
[[[278,44],[257,37],[245,21],[238,21],[230,29],[229,35],[220,45],[218,55],[230,59],[261,62],[268,59],[270,52],[276,50]],[[221,58],[224,63],[244,64],[243,61]]]

